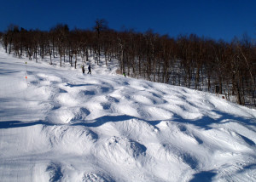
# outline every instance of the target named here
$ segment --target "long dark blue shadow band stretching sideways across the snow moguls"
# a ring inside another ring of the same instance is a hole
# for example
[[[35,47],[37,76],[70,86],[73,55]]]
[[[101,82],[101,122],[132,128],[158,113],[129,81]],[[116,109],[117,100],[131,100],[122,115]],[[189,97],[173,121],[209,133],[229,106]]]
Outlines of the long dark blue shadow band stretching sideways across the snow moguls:
[[[83,125],[85,127],[100,127],[102,124],[105,124],[107,122],[125,122],[127,120],[131,119],[137,119],[143,122],[147,122],[148,124],[154,126],[157,128],[157,124],[160,122],[179,122],[179,123],[189,123],[191,125],[194,125],[198,128],[202,128],[205,130],[212,129],[212,124],[224,124],[227,122],[237,122],[239,124],[242,124],[242,126],[249,128],[256,132],[256,122],[253,119],[247,119],[244,117],[236,117],[221,111],[214,111],[216,115],[220,116],[217,119],[214,119],[212,117],[203,116],[201,118],[197,119],[184,119],[183,117],[174,114],[172,118],[166,119],[166,120],[144,120],[143,118],[139,117],[133,117],[129,115],[119,115],[119,116],[102,116],[98,117],[93,120],[83,120],[83,121],[74,121],[73,123],[69,123],[70,125]],[[32,121],[32,122],[21,122],[21,121],[3,121],[0,122],[0,128],[19,128],[19,127],[29,127],[32,125],[37,124],[43,124],[43,125],[54,125],[54,123],[51,123],[47,120],[38,120],[38,121]],[[183,129],[183,128],[181,128]],[[186,128],[184,128],[186,130]],[[240,135],[242,139],[244,139],[248,145],[255,145],[255,143],[251,139],[247,139],[245,136]]]

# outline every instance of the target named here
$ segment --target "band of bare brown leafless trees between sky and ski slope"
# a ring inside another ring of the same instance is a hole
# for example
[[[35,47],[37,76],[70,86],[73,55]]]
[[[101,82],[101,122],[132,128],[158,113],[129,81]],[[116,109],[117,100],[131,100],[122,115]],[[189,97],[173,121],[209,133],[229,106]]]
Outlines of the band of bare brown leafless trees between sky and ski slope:
[[[160,36],[153,31],[113,31],[105,20],[91,30],[56,25],[49,31],[9,26],[0,34],[6,53],[44,60],[58,57],[77,68],[90,56],[96,64],[119,60],[119,72],[154,82],[236,96],[240,105],[256,106],[256,45],[246,35],[232,42],[189,36]]]

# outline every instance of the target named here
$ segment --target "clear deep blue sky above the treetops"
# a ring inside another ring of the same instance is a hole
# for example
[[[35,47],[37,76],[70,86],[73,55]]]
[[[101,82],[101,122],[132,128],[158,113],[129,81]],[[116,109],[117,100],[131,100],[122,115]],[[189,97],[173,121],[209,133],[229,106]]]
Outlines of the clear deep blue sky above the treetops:
[[[149,28],[161,35],[230,41],[256,35],[255,0],[0,0],[0,31],[9,24],[49,30],[57,23],[87,29],[105,19],[114,30]]]

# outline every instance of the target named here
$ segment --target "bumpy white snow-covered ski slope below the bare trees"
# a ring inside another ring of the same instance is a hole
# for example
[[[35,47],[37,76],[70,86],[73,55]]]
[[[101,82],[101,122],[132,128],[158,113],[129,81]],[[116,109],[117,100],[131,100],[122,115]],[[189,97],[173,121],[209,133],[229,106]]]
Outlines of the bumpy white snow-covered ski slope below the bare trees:
[[[255,110],[110,68],[1,50],[1,181],[256,181]]]

